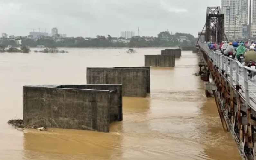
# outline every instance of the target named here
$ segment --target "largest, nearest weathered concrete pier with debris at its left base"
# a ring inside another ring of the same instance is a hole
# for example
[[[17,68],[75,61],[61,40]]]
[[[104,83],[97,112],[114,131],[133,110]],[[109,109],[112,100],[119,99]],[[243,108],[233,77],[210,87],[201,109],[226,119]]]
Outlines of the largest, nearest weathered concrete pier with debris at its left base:
[[[104,87],[106,90],[84,89]],[[23,86],[23,122],[25,125],[109,132],[110,122],[123,119],[120,97],[120,84]]]

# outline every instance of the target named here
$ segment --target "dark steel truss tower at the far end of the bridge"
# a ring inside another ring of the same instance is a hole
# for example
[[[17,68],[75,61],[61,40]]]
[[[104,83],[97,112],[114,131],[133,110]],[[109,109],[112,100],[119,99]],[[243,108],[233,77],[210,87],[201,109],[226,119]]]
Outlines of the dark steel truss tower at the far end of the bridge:
[[[224,14],[220,7],[207,7],[205,41],[221,43],[224,40]]]

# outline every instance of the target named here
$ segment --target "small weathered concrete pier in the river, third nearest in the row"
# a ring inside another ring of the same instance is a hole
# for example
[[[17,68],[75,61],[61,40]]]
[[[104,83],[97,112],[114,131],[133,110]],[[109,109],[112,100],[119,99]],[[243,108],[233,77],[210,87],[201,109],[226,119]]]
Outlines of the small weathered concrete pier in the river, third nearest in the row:
[[[151,67],[174,67],[175,66],[175,55],[145,55],[144,66]]]

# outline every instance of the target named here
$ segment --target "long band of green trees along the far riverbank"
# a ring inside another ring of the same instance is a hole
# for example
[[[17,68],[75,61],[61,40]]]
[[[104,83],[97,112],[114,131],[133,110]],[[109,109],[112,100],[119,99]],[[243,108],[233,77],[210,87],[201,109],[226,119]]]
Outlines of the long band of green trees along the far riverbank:
[[[186,36],[187,40],[179,42],[180,36]],[[82,37],[77,38],[62,38],[61,41],[55,41],[50,38],[41,38],[36,41],[32,39],[23,39],[22,46],[36,47],[36,45],[44,45],[45,47],[179,47],[187,45],[195,45],[196,38],[190,34],[176,33],[170,35],[169,32],[161,32],[158,37],[154,37],[151,41],[146,41],[144,37],[132,37],[129,43],[116,42],[113,43],[113,38],[108,37],[103,39],[86,40]],[[18,45],[14,40],[3,39],[2,46],[6,47]]]

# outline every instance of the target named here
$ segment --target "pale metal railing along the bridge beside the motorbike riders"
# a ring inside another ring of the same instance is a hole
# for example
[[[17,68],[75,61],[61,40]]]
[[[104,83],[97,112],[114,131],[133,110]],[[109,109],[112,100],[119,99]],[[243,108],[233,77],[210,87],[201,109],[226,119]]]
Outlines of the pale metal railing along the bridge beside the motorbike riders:
[[[248,70],[251,74],[256,73],[256,69],[243,66],[239,61],[233,60],[220,51],[212,51],[208,48],[207,44],[200,43],[200,47],[206,51],[206,54],[213,60],[221,72],[223,69],[228,74],[227,79],[232,85],[239,85],[242,88],[242,96],[245,99],[246,108],[248,104],[256,111],[256,83],[248,78]],[[229,63],[229,64],[228,64]],[[256,77],[256,76],[255,76]],[[231,83],[233,82],[233,83]]]

